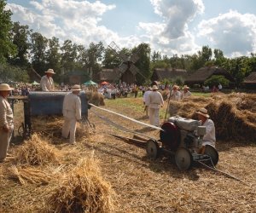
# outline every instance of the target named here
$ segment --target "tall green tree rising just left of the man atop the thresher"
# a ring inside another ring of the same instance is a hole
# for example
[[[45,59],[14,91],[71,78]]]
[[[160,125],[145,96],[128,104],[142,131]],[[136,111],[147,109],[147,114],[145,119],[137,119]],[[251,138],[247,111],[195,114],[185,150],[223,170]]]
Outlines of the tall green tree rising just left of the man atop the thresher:
[[[43,76],[48,68],[45,54],[48,48],[48,39],[39,32],[33,32],[31,35],[31,45],[32,67]]]

